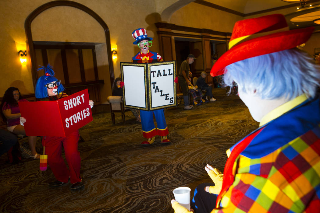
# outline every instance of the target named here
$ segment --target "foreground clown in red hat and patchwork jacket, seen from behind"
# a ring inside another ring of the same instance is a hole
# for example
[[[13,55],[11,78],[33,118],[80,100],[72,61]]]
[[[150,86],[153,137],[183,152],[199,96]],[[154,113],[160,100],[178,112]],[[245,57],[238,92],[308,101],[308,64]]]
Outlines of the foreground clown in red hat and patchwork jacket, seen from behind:
[[[195,212],[319,212],[319,66],[295,48],[313,30],[289,30],[280,14],[236,22],[211,75],[237,83],[260,127],[228,149],[223,174],[207,164],[214,184],[196,188]]]

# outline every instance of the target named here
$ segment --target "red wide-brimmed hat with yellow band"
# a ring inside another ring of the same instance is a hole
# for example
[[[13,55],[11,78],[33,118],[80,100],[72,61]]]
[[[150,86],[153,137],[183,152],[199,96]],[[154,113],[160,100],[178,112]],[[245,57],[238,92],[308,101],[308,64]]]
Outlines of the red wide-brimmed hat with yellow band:
[[[237,61],[294,48],[307,42],[313,31],[314,27],[289,30],[281,14],[237,21],[229,50],[212,66],[210,74],[224,74],[225,67]]]

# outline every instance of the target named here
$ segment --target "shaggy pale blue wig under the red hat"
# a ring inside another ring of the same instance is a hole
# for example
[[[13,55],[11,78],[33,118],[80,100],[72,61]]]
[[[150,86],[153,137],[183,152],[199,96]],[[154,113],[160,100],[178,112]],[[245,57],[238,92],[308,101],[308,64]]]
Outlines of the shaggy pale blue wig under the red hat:
[[[291,100],[306,94],[313,98],[319,87],[319,66],[297,48],[247,58],[226,67],[226,86],[236,81],[244,92],[256,91],[262,99]]]

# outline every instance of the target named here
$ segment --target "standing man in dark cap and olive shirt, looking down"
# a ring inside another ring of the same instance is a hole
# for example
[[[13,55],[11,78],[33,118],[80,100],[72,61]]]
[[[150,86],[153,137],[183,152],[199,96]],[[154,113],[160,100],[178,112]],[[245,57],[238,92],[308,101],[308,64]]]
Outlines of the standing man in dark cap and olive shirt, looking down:
[[[189,90],[188,86],[190,85],[189,74],[190,67],[189,64],[192,64],[195,61],[195,56],[189,54],[187,59],[181,63],[179,74],[178,74],[178,83],[182,90],[184,109],[191,110],[192,106],[189,105]]]

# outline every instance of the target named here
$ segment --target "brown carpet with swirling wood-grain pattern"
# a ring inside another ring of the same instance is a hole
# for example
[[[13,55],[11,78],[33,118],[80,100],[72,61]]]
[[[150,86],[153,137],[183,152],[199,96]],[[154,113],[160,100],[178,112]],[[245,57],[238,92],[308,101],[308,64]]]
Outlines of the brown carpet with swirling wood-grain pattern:
[[[209,163],[221,171],[225,151],[258,127],[236,95],[213,89],[216,102],[183,110],[165,110],[171,144],[142,147],[141,125],[130,111],[122,124],[116,113],[112,125],[109,112],[98,113],[80,129],[79,142],[84,188],[71,191],[71,183],[51,188],[54,180],[39,161],[24,159],[6,164],[0,157],[0,212],[173,212],[170,200],[178,186],[192,189],[211,182],[204,170]],[[183,105],[183,104],[182,104]],[[23,145],[26,141],[22,141]],[[41,143],[37,146],[40,148]]]

